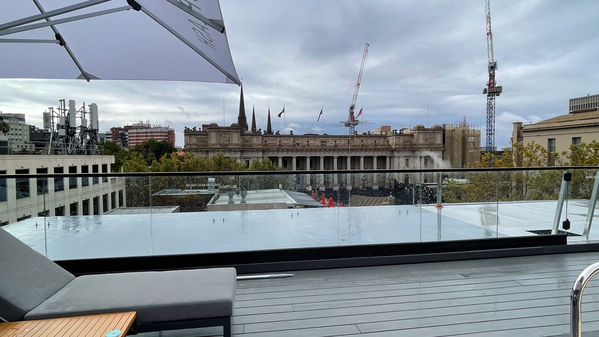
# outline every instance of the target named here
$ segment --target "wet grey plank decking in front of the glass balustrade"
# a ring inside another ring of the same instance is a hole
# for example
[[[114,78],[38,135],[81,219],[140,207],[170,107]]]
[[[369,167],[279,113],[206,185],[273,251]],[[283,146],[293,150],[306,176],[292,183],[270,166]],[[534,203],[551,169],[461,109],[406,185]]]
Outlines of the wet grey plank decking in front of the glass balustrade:
[[[590,252],[304,270],[294,278],[238,281],[232,332],[243,337],[565,336],[574,279],[597,261],[599,252]],[[583,332],[599,330],[597,285],[599,276],[583,294]],[[218,328],[161,333],[219,335]]]

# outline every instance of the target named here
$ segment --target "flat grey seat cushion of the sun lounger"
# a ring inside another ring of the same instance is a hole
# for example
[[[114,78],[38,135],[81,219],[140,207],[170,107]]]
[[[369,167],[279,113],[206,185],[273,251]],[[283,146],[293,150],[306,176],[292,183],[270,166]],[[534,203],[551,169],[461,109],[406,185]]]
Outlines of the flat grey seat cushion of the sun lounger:
[[[229,317],[234,268],[85,275],[25,315],[38,320],[137,311],[138,323]]]

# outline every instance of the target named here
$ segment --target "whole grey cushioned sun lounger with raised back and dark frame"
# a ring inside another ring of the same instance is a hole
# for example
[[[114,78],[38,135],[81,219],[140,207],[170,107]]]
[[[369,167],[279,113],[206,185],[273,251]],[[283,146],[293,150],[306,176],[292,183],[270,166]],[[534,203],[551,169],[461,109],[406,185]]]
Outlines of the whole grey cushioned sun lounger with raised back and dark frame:
[[[39,320],[137,311],[134,332],[223,326],[231,336],[234,268],[75,278],[0,228],[0,317]]]

